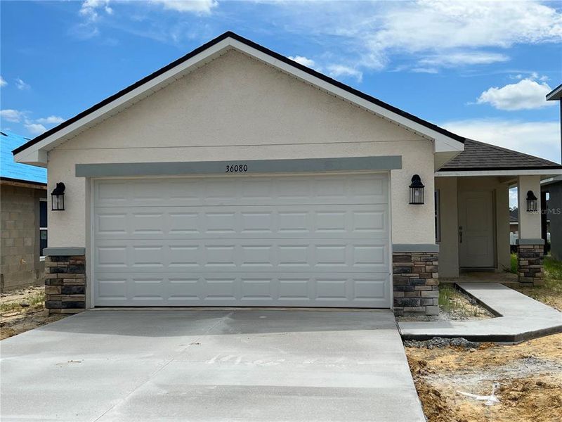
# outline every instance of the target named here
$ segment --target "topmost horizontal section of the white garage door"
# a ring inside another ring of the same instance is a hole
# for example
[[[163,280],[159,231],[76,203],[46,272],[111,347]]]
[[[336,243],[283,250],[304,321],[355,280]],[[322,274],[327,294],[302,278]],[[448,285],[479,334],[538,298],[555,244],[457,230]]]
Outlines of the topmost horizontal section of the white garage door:
[[[99,207],[386,204],[384,174],[276,177],[185,177],[103,180],[94,187]]]

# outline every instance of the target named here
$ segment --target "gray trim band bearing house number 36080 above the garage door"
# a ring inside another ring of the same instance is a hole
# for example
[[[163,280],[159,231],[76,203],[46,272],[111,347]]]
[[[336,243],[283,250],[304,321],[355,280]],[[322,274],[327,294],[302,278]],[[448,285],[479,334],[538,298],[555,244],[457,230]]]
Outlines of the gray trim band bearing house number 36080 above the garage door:
[[[233,171],[227,171],[231,166]],[[242,166],[242,170],[240,170],[240,166]],[[387,155],[381,157],[299,158],[294,160],[120,162],[103,164],[77,164],[76,176],[135,177],[171,176],[181,174],[358,172],[372,170],[398,170],[401,168],[401,155]]]

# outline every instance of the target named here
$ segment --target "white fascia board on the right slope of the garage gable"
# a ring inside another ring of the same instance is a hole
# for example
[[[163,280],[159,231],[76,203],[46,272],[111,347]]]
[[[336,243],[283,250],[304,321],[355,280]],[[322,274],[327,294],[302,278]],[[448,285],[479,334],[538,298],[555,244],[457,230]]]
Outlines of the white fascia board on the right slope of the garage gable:
[[[365,100],[365,98],[361,98],[348,92],[344,89],[334,86],[334,84],[330,84],[314,75],[311,75],[299,68],[295,68],[289,63],[285,63],[281,60],[278,60],[275,57],[270,56],[267,53],[263,53],[257,49],[254,49],[252,46],[248,46],[236,39],[230,39],[230,43],[235,49],[242,51],[242,53],[247,53],[249,56],[253,56],[258,60],[263,61],[264,63],[268,63],[273,67],[282,70],[283,72],[289,73],[289,75],[293,75],[298,79],[301,79],[309,84],[314,85],[322,89],[323,91],[327,91],[335,96],[339,96],[340,98],[344,98],[345,100],[354,103],[361,108],[371,111],[372,113],[379,115],[379,117],[386,118],[386,120],[391,120],[400,126],[405,127],[407,129],[411,129],[417,134],[424,136],[429,139],[436,140],[436,151],[438,152],[445,152],[445,151],[464,151],[464,144],[462,142],[457,141],[456,139],[452,139],[448,136],[440,134],[439,132],[430,129],[429,127],[425,127],[422,124],[417,122],[413,122],[412,120],[408,119],[407,117],[400,116],[396,113],[393,113],[391,110],[387,110],[381,106],[377,106],[377,104],[372,103],[371,101]]]

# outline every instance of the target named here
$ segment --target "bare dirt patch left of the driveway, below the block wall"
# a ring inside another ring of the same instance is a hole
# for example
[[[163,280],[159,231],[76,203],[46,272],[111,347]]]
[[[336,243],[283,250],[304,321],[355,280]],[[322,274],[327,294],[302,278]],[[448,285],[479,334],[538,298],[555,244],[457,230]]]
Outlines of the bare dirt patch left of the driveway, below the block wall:
[[[44,308],[45,288],[28,287],[0,295],[0,340],[65,317],[48,316]]]

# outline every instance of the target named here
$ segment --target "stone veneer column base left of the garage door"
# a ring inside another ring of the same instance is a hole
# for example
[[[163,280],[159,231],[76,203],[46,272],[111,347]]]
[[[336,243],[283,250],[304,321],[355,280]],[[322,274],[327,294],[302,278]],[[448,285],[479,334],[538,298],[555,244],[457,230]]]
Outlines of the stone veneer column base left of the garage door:
[[[50,314],[76,314],[86,309],[86,257],[45,257],[45,307]]]

